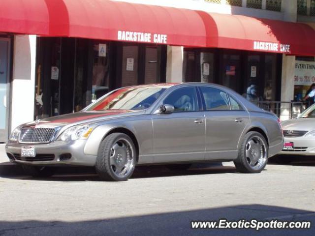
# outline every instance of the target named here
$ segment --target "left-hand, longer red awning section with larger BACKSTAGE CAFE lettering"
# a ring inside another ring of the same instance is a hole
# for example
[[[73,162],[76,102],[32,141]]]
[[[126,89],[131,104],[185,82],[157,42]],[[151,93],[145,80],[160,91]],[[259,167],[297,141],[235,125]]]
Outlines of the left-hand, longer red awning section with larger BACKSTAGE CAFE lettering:
[[[4,0],[0,31],[194,47],[206,41],[195,11],[111,0]]]

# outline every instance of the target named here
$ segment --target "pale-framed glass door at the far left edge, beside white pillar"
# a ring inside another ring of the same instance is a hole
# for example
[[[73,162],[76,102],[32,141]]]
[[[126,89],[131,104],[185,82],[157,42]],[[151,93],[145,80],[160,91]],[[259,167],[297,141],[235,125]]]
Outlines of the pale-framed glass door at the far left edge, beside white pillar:
[[[0,142],[8,138],[9,39],[0,39]]]

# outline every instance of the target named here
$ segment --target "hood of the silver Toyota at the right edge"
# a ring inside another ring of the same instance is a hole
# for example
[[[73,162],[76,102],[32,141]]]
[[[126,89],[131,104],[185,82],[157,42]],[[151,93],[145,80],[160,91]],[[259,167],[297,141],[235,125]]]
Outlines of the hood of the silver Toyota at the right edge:
[[[315,130],[315,118],[296,118],[281,122],[284,130]]]

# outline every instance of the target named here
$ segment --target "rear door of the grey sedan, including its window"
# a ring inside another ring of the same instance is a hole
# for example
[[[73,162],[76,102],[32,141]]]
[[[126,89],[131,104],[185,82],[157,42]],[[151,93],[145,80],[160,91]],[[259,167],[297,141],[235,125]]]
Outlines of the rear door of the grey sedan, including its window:
[[[199,87],[205,110],[205,159],[234,159],[239,139],[249,122],[246,110],[225,91]]]

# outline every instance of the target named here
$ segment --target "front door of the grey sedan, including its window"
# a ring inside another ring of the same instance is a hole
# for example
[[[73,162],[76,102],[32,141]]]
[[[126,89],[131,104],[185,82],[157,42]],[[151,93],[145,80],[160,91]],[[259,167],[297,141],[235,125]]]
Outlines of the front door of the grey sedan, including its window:
[[[205,118],[199,103],[194,86],[175,89],[163,99],[160,105],[173,105],[175,111],[152,115],[155,163],[204,160]]]

